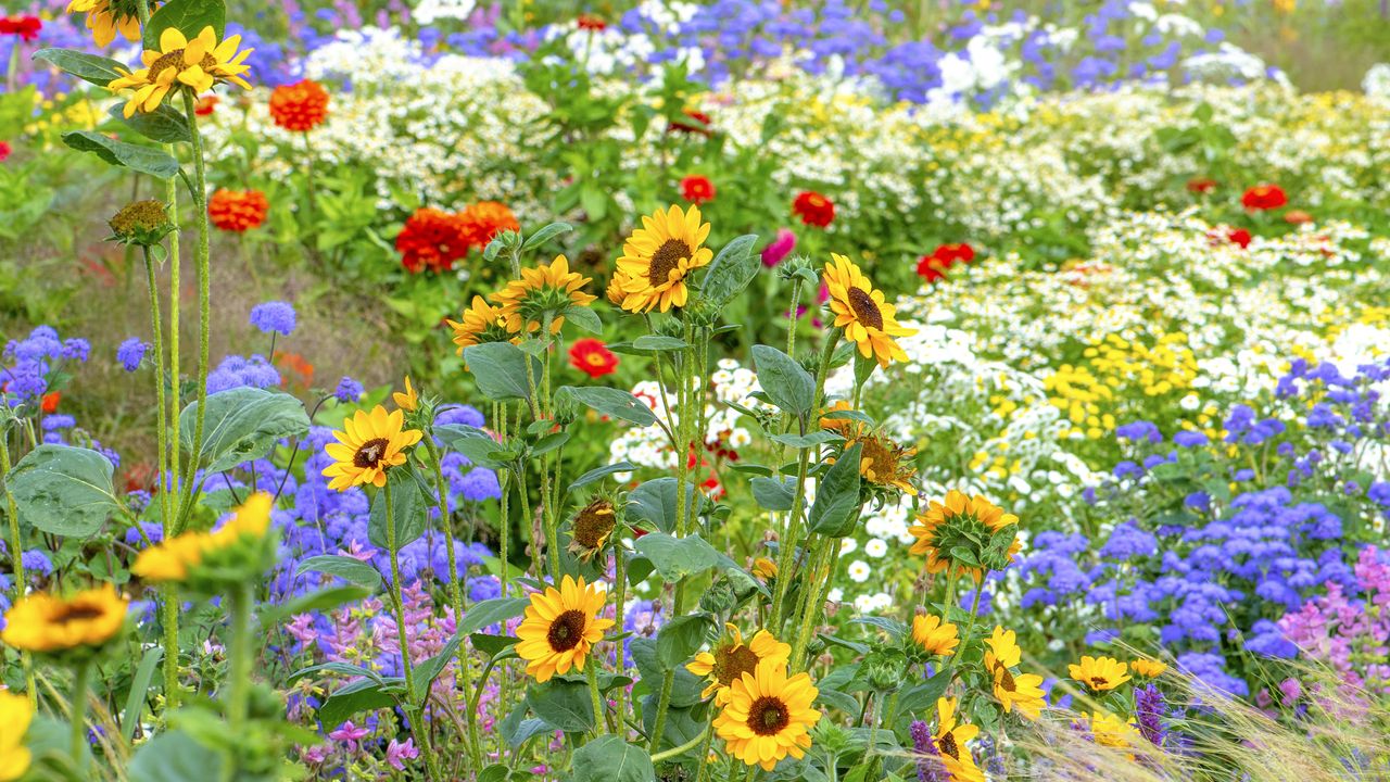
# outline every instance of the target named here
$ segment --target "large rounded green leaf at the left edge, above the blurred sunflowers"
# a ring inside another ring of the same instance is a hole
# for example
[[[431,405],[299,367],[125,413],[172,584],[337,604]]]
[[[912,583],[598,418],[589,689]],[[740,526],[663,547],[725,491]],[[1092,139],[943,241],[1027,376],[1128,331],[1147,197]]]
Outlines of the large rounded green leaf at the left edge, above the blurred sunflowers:
[[[101,454],[71,445],[39,445],[7,477],[19,520],[67,537],[88,537],[121,512],[111,486],[115,468]]]

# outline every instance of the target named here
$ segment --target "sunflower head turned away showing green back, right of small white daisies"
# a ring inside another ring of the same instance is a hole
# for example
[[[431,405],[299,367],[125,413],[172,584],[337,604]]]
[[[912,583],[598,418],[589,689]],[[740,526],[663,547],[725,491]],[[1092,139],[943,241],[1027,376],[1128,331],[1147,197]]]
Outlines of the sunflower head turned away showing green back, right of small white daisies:
[[[1023,548],[1019,518],[976,494],[951,490],[944,501],[931,501],[908,532],[916,537],[909,550],[927,557],[927,572],[948,568],[969,573],[979,583],[987,570],[1002,570]],[[980,543],[986,541],[986,543]]]

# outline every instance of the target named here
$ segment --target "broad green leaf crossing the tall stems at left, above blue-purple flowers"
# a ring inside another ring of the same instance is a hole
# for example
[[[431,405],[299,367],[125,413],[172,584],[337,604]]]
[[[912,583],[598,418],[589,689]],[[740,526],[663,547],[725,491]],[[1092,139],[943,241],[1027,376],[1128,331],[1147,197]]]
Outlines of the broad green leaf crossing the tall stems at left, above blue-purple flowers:
[[[193,449],[197,402],[178,416],[179,442]],[[285,437],[309,433],[309,413],[295,397],[265,388],[228,388],[207,398],[203,449],[197,463],[208,473],[229,470],[270,454]]]

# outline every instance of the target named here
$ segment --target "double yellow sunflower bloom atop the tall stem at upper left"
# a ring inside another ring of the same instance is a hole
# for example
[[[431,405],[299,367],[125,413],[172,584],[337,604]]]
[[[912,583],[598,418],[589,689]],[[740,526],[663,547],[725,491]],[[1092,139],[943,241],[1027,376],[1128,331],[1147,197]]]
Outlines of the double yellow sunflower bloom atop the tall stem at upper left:
[[[185,86],[195,95],[213,89],[217,83],[235,83],[242,89],[252,85],[242,78],[250,65],[242,63],[252,50],[238,51],[242,36],[234,35],[217,43],[211,25],[203,28],[197,38],[189,40],[177,28],[165,28],[160,33],[160,50],[146,50],[140,56],[145,67],[138,71],[118,68],[121,78],[107,85],[111,92],[133,89],[135,95],[125,103],[125,115],[136,111],[154,111],[170,90]]]

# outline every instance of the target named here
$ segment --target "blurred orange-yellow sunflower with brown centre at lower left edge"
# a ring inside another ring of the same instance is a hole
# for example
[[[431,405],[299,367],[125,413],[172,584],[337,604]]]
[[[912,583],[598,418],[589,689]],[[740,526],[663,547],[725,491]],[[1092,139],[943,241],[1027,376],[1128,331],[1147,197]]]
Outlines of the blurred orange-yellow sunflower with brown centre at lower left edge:
[[[29,594],[6,612],[0,640],[33,653],[99,647],[121,632],[126,608],[128,603],[111,584],[70,598]]]

